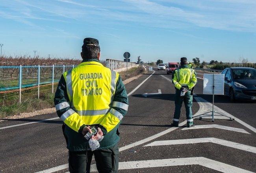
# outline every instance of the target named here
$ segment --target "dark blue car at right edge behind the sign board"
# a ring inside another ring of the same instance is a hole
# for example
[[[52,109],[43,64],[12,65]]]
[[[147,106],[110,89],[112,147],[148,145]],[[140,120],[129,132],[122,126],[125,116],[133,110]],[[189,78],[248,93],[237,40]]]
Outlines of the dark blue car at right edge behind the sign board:
[[[224,95],[229,96],[230,101],[236,99],[256,100],[255,68],[225,68],[221,74],[225,75]]]

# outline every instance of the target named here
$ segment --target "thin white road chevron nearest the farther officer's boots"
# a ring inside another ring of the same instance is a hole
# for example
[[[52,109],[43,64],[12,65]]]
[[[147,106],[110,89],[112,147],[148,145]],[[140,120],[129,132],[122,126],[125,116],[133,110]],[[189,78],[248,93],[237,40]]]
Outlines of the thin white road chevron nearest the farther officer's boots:
[[[223,130],[227,130],[227,131],[234,131],[234,132],[239,132],[239,133],[250,134],[249,132],[245,131],[244,129],[229,127],[229,126],[224,126],[224,125],[218,125],[218,124],[196,125],[194,127],[185,127],[182,130],[208,129],[208,128],[216,128],[216,129],[223,129]]]

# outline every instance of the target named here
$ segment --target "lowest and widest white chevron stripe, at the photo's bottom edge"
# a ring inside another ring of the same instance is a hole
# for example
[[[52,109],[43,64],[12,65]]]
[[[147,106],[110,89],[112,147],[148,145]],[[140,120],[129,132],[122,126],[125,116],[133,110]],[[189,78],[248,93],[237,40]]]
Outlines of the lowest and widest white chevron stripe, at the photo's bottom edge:
[[[218,162],[216,160],[211,160],[205,157],[167,158],[158,160],[119,162],[119,170],[186,165],[200,165],[223,173],[253,173],[251,171],[247,171],[245,169]],[[91,165],[91,171],[97,171],[96,164]]]

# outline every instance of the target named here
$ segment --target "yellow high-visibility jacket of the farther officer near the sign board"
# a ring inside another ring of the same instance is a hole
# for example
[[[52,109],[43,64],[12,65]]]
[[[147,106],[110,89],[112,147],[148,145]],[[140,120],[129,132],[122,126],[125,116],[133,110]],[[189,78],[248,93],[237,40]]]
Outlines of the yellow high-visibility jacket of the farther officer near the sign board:
[[[188,86],[189,89],[197,84],[195,70],[191,68],[178,68],[173,76],[173,84],[180,90],[182,86]]]

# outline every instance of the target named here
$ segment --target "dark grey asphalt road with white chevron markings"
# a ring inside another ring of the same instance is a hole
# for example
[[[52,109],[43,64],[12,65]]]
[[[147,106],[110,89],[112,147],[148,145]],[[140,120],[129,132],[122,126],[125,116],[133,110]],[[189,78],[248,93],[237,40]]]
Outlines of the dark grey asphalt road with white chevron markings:
[[[119,172],[256,172],[256,103],[230,103],[227,97],[216,96],[215,105],[235,120],[194,120],[195,129],[182,124],[169,127],[175,93],[170,79],[165,71],[156,70],[126,85],[130,93],[145,81],[130,94],[129,110],[120,126]],[[195,94],[206,101],[198,103],[194,98],[193,114],[211,106],[212,97],[202,95],[202,82],[198,79]],[[161,94],[152,94],[159,90]],[[145,93],[152,95],[145,97]],[[67,172],[68,151],[62,121],[56,117],[54,113],[0,123],[0,172]],[[56,119],[31,123],[49,118]],[[184,107],[180,123],[183,121],[185,124]]]

